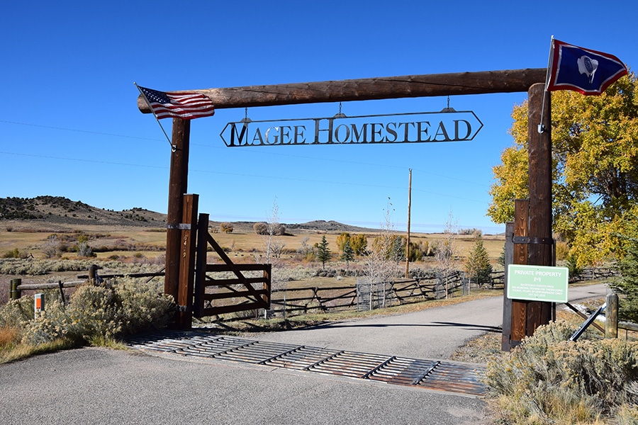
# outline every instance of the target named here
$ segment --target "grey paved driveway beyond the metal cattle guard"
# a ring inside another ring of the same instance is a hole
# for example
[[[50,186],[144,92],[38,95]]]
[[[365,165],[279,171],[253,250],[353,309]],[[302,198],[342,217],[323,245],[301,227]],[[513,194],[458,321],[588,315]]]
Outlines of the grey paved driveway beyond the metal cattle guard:
[[[570,288],[569,300],[604,296],[605,291],[605,285]],[[470,339],[490,331],[500,333],[501,324],[503,298],[491,297],[408,314],[257,334],[252,338],[364,353],[442,359],[449,358],[454,350]]]

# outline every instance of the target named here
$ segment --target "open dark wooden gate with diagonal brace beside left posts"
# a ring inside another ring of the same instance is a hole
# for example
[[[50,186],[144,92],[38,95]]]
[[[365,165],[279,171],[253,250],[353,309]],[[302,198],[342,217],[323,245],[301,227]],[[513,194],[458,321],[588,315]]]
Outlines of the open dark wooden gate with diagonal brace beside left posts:
[[[208,264],[208,246],[223,264]],[[194,285],[194,317],[270,308],[270,264],[235,264],[208,233],[208,214],[200,214]]]

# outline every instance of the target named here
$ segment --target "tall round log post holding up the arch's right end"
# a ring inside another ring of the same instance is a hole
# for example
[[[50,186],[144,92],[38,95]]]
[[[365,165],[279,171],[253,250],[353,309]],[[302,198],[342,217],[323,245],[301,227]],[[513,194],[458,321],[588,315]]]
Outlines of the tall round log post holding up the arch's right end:
[[[528,264],[554,265],[554,241],[552,239],[552,110],[551,96],[544,84],[534,84],[528,94],[529,177],[530,177],[530,244]],[[543,101],[543,97],[547,96]],[[543,110],[544,108],[544,110]],[[539,132],[538,125],[544,130]],[[552,320],[552,302],[527,304],[527,335],[537,327]]]

